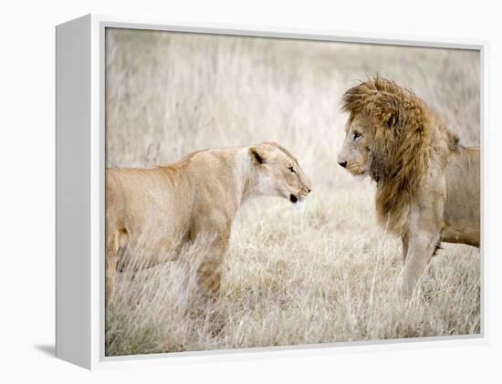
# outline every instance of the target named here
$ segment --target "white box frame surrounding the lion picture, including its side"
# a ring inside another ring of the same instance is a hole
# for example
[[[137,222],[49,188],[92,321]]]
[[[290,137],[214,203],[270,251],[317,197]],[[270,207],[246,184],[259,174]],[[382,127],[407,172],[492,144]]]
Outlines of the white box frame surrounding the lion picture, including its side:
[[[481,57],[482,150],[482,333],[464,337],[350,342],[293,347],[176,352],[160,355],[104,355],[104,32],[127,27],[233,36],[270,36],[323,41],[415,47],[476,49]],[[122,368],[240,358],[280,358],[346,353],[358,350],[403,350],[489,341],[486,254],[486,95],[488,43],[413,36],[353,35],[323,30],[257,28],[217,24],[177,24],[139,17],[88,15],[56,28],[57,40],[57,292],[56,356],[78,366]]]

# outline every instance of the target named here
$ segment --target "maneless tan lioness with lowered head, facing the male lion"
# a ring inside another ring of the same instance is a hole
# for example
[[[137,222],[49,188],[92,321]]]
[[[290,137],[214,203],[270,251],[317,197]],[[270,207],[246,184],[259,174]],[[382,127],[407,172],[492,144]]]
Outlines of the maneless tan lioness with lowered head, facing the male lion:
[[[108,169],[107,303],[123,265],[146,268],[170,261],[183,244],[195,240],[208,242],[197,282],[204,296],[214,298],[232,222],[242,203],[258,195],[300,203],[309,192],[310,182],[298,161],[274,142],[197,151],[153,169]],[[125,260],[120,249],[138,244],[146,246],[146,252]]]

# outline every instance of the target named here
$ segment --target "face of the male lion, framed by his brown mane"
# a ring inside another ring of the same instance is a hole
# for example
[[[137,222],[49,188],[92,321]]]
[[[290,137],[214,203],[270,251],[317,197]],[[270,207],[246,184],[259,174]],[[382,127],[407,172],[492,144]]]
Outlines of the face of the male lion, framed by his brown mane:
[[[338,163],[354,176],[371,174],[371,134],[365,130],[361,119],[347,123],[345,140],[340,150]]]

